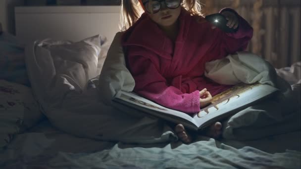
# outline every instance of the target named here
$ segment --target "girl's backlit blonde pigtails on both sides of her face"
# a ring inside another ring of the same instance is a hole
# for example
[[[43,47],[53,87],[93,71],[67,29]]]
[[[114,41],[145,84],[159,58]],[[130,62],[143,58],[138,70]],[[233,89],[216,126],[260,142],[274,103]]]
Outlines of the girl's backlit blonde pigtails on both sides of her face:
[[[182,6],[191,13],[191,15],[200,15],[201,3],[199,0],[183,0]],[[122,0],[119,28],[126,31],[131,27],[144,12],[138,0]]]

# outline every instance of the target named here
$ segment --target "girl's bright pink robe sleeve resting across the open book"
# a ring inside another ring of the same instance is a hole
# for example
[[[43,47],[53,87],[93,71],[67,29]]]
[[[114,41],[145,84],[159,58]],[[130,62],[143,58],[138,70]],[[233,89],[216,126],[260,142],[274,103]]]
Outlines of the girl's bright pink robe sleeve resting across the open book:
[[[150,59],[129,55],[128,67],[135,79],[136,93],[170,109],[185,113],[200,111],[200,91],[186,94],[174,86],[168,86]]]

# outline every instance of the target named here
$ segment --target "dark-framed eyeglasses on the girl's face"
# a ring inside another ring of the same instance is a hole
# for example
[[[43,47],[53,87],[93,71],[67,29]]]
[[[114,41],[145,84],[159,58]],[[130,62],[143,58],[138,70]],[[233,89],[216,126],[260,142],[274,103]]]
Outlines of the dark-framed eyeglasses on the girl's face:
[[[169,9],[175,9],[181,5],[181,0],[148,0],[144,2],[143,5],[147,12],[157,13],[161,9],[162,1],[165,2],[166,7]]]

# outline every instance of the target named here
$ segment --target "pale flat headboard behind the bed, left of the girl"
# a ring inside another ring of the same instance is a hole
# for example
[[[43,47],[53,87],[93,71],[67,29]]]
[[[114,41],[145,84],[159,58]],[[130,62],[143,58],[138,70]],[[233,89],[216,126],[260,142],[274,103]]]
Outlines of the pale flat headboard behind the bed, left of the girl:
[[[104,35],[112,41],[119,31],[120,6],[19,6],[15,8],[16,37],[21,42],[80,41]]]

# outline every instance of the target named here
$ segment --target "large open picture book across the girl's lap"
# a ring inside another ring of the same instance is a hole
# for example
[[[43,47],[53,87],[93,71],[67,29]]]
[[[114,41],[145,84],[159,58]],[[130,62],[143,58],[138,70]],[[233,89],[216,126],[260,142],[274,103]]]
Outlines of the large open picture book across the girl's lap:
[[[223,117],[237,113],[277,90],[267,84],[237,84],[213,96],[211,104],[195,114],[186,114],[168,109],[133,92],[119,91],[113,101],[177,124],[181,123],[185,127],[199,130]]]

